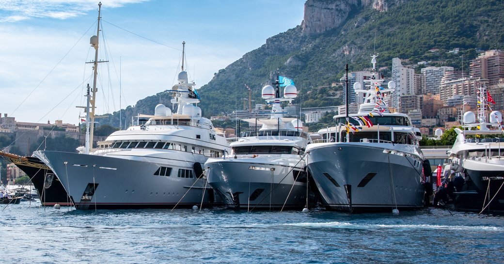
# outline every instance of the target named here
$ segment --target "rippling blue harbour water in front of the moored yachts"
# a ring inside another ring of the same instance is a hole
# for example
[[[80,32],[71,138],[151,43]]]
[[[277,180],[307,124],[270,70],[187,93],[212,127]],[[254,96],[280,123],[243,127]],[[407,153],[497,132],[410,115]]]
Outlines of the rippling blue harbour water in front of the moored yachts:
[[[502,263],[504,217],[2,206],[2,263]]]

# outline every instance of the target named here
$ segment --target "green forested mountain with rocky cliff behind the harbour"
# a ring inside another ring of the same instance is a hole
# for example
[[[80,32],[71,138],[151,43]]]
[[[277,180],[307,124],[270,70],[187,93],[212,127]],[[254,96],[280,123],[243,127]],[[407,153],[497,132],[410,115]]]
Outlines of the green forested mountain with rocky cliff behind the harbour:
[[[253,89],[253,99],[263,102],[261,88],[273,81],[277,69],[301,90],[294,103],[302,98],[303,107],[340,105],[344,98],[327,94],[330,89],[342,89],[332,86],[343,76],[345,62],[349,71],[362,71],[370,67],[372,53],[379,53],[380,68],[390,69],[392,58],[399,57],[411,63],[463,67],[467,72],[477,50],[504,49],[501,25],[504,1],[497,0],[484,4],[473,0],[308,0],[299,26],[268,38],[261,47],[217,71],[198,90],[200,107],[206,117],[242,109],[241,98],[248,98],[245,84]],[[462,52],[448,53],[453,48]],[[387,69],[382,73],[390,76]],[[167,100],[160,93],[140,100],[134,111],[126,111],[151,113],[155,104]],[[147,111],[139,111],[142,106]]]

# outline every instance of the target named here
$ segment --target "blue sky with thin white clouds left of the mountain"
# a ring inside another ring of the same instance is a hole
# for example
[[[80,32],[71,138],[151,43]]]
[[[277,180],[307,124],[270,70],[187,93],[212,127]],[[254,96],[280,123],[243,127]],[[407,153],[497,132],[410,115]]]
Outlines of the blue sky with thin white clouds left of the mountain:
[[[196,87],[301,24],[305,0],[102,0],[96,114],[176,84]],[[98,1],[0,0],[0,113],[21,122],[77,124],[92,86]],[[205,100],[205,98],[202,98]],[[171,106],[170,106],[171,107]]]

